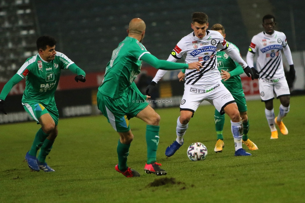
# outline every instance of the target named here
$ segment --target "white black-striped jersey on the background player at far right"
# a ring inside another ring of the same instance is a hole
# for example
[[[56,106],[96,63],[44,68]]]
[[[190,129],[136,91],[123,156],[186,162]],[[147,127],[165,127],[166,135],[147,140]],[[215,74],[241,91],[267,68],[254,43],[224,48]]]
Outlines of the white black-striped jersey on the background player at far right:
[[[250,67],[253,67],[253,54],[255,54],[257,58],[256,69],[260,78],[276,79],[284,77],[282,49],[288,63],[293,64],[286,36],[283,32],[274,31],[272,35],[260,32],[252,37],[247,53],[247,63]]]

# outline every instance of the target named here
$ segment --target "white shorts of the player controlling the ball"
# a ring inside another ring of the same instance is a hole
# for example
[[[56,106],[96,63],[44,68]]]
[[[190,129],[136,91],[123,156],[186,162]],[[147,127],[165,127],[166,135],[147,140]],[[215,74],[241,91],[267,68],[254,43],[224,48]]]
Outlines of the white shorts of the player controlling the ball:
[[[230,103],[236,103],[232,94],[227,88],[219,83],[210,90],[198,89],[199,85],[187,85],[184,87],[184,93],[180,104],[180,111],[192,111],[197,110],[199,104],[206,100],[215,106],[220,114],[224,114],[224,107]]]

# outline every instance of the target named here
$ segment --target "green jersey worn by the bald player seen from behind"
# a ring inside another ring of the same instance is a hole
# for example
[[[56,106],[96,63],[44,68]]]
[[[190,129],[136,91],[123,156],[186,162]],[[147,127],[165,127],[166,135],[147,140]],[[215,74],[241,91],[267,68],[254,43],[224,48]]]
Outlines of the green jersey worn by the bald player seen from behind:
[[[141,42],[133,37],[126,37],[119,43],[118,48],[113,50],[98,91],[113,99],[126,94],[141,71],[140,58],[146,53],[150,54]]]

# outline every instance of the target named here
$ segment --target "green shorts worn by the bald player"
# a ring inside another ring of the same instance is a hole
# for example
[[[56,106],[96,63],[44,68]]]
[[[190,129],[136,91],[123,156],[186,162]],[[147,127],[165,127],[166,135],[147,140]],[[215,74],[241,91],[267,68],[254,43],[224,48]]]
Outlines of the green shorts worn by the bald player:
[[[98,109],[106,116],[108,122],[117,132],[130,130],[129,119],[137,116],[148,102],[134,90],[127,92],[122,98],[113,99],[98,92]]]

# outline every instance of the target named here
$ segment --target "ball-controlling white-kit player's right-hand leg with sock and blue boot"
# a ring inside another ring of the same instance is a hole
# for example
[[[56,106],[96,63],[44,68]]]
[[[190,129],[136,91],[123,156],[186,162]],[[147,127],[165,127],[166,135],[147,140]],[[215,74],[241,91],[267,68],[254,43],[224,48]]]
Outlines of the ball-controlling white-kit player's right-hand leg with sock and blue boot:
[[[242,119],[239,115],[238,107],[236,103],[228,104],[224,107],[224,112],[231,118],[231,131],[235,142],[235,156],[250,156],[242,149]]]

